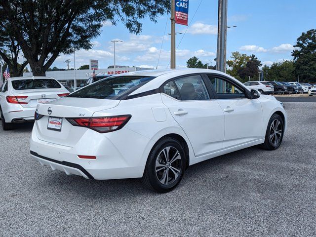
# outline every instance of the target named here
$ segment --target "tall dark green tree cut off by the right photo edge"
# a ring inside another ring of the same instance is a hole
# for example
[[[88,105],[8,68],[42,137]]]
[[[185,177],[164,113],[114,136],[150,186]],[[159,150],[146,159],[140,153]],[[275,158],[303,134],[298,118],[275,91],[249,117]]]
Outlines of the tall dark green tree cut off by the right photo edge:
[[[316,30],[309,30],[297,39],[293,50],[296,74],[304,81],[316,81]]]

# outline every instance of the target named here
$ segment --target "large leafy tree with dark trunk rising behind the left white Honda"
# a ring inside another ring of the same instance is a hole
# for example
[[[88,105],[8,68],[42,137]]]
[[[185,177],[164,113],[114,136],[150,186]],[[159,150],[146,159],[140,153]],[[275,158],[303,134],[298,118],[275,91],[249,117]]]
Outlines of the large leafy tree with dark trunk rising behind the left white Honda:
[[[156,22],[170,9],[170,0],[1,0],[0,35],[16,40],[35,76],[44,76],[60,53],[91,49],[103,22],[121,21],[140,33],[141,19]]]

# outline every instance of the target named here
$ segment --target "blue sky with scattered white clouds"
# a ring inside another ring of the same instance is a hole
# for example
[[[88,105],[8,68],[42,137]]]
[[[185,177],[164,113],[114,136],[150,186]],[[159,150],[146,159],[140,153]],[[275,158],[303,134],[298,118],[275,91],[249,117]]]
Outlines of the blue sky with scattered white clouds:
[[[214,65],[217,42],[217,5],[218,0],[190,0],[188,28],[177,50],[177,68],[186,66],[186,61],[197,56],[204,63]],[[194,13],[197,13],[194,16]],[[139,35],[131,35],[118,22],[112,26],[105,22],[101,36],[94,39],[92,50],[80,50],[76,54],[76,68],[88,64],[89,59],[98,59],[99,68],[113,65],[113,43],[111,40],[123,40],[117,44],[117,65],[155,67],[165,24],[170,16],[158,17],[152,23],[143,19],[143,30]],[[263,64],[283,59],[292,59],[291,51],[296,39],[310,29],[315,29],[316,0],[228,0],[228,25],[237,28],[228,29],[227,57],[234,51],[255,54]],[[186,26],[176,25],[177,32],[185,32]],[[170,58],[170,20],[167,22],[166,34],[162,45],[158,68],[166,68]],[[177,35],[176,45],[182,35]],[[66,68],[66,59],[73,55],[61,55],[52,65]]]

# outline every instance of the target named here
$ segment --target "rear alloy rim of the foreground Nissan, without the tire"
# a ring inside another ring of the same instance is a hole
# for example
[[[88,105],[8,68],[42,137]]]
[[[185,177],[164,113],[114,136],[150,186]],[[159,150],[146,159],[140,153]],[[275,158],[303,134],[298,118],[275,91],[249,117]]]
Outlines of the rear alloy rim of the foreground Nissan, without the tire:
[[[170,185],[177,180],[181,173],[182,159],[174,147],[165,147],[156,158],[155,172],[159,182]]]

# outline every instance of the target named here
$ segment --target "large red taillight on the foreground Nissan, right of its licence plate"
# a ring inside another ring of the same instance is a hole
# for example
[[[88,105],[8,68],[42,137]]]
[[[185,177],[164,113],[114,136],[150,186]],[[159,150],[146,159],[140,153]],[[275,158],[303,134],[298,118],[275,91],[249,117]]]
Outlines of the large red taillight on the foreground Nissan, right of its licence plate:
[[[105,133],[121,129],[131,117],[131,115],[120,115],[102,118],[67,118],[67,120],[74,126],[88,127]]]

